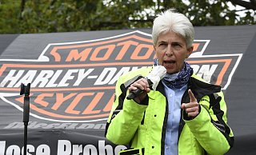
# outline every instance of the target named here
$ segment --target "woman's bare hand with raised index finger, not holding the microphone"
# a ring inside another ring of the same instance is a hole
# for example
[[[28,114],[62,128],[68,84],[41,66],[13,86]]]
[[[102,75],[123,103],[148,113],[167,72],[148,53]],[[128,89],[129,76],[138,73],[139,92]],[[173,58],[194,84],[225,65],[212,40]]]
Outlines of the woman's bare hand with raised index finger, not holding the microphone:
[[[199,104],[197,99],[194,97],[194,93],[192,93],[191,89],[188,90],[190,95],[190,102],[189,103],[182,103],[182,109],[186,110],[186,113],[189,117],[197,117],[199,114]]]

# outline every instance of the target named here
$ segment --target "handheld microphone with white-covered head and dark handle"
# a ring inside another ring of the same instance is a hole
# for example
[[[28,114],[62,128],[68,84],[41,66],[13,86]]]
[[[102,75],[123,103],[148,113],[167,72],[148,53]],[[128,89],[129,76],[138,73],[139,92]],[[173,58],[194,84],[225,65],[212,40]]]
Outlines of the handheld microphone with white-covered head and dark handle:
[[[164,66],[154,66],[153,69],[150,71],[150,74],[148,74],[145,78],[147,82],[149,83],[150,87],[152,86],[152,89],[157,89],[159,81],[164,78],[166,74],[166,68]],[[130,91],[128,96],[126,97],[127,100],[133,99],[134,97],[138,97],[140,93],[142,93],[142,89],[135,89]]]

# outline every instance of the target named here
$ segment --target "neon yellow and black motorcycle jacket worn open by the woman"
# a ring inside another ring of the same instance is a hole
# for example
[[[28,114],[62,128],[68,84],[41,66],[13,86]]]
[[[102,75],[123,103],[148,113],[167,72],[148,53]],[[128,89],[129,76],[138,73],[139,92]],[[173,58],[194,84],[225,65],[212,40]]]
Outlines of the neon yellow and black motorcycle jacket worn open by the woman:
[[[141,154],[165,154],[165,135],[168,103],[162,82],[157,90],[151,90],[143,104],[127,100],[129,85],[146,76],[151,68],[131,71],[118,79],[115,101],[106,124],[106,138],[114,144],[129,144],[140,149]],[[179,126],[179,155],[221,155],[234,143],[233,132],[226,125],[226,102],[221,87],[210,85],[196,75],[190,77],[191,89],[200,105],[200,113],[190,120],[182,110]],[[189,102],[187,91],[182,102]],[[134,153],[130,153],[134,154]]]

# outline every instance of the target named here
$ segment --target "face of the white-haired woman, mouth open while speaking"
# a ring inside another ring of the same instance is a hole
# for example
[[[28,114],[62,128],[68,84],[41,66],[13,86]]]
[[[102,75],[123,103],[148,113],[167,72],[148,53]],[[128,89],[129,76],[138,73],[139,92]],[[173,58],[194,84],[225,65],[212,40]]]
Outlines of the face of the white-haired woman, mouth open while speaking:
[[[168,74],[175,74],[182,70],[184,61],[190,56],[193,47],[187,48],[182,36],[174,32],[160,34],[154,46],[159,65],[166,68]]]

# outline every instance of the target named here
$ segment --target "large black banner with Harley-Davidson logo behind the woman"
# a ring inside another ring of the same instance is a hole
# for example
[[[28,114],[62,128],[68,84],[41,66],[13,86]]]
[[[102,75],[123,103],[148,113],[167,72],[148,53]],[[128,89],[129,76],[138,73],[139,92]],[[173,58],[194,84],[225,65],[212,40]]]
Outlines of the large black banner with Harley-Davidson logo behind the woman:
[[[187,62],[222,85],[234,148],[255,154],[256,26],[195,27]],[[104,137],[118,77],[149,67],[151,30],[0,35],[0,155],[22,154],[24,95],[30,83],[27,154],[117,155],[126,145]]]

